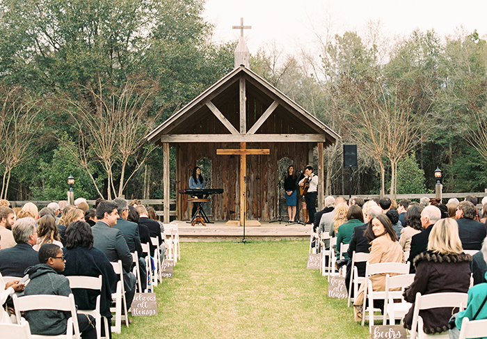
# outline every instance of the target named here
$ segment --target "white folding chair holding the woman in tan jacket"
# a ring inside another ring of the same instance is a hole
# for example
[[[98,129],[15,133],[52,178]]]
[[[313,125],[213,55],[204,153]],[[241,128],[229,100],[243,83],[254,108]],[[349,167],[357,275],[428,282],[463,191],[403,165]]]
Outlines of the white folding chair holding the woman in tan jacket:
[[[385,291],[374,291],[370,277],[375,274],[408,274],[409,262],[403,264],[401,262],[379,262],[377,264],[365,264],[365,279],[364,279],[364,306],[366,301],[369,301],[367,308],[363,308],[362,312],[362,326],[365,324],[365,314],[369,312],[369,331],[372,331],[374,319],[383,320],[382,315],[374,316],[374,312],[381,311],[374,308],[374,300],[385,299]]]

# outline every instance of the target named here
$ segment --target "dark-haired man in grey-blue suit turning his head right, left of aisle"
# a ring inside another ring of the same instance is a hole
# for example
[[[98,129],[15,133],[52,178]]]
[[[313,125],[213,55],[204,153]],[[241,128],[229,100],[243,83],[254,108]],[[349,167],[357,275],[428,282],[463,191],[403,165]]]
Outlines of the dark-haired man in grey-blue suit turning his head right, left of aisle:
[[[109,201],[102,201],[97,206],[97,223],[91,228],[93,232],[93,247],[105,253],[111,262],[122,260],[124,270],[125,297],[127,309],[130,308],[135,294],[136,278],[130,271],[132,267],[132,255],[125,242],[121,230],[113,228],[118,221],[117,205]],[[112,286],[112,292],[116,285]]]

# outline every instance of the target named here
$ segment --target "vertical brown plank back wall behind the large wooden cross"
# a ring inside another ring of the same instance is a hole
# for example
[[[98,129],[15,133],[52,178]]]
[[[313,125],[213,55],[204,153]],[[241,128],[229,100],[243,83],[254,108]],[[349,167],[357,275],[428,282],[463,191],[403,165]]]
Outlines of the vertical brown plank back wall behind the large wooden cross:
[[[212,198],[211,211],[215,220],[235,220],[239,214],[239,156],[216,155],[218,148],[239,148],[238,143],[181,143],[175,145],[176,190],[188,188],[189,177],[198,160],[211,161],[212,188],[222,188],[223,194]],[[269,148],[270,155],[247,156],[247,219],[269,221],[277,216],[278,161],[291,159],[296,171],[308,164],[308,143],[248,143],[247,148]],[[177,218],[189,219],[191,212],[184,194],[176,195]]]

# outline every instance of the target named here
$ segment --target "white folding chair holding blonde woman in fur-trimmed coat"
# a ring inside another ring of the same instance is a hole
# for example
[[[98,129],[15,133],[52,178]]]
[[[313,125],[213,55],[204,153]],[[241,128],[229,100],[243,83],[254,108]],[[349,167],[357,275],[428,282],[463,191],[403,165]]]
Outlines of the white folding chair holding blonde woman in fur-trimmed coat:
[[[460,310],[463,310],[463,307],[467,306],[467,301],[467,293],[447,292],[421,295],[420,292],[417,292],[414,304],[413,323],[411,324],[410,339],[415,339],[416,336],[419,339],[448,339],[448,331],[433,335],[424,333],[423,319],[420,316],[420,310],[439,307],[458,307]]]

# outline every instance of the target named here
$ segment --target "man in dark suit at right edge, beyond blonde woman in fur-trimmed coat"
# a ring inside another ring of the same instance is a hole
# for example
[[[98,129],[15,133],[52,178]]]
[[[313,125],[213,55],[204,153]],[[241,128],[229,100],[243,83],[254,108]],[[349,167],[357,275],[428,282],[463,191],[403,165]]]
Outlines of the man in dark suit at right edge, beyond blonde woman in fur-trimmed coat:
[[[458,235],[463,249],[481,249],[487,235],[486,226],[474,220],[476,214],[477,210],[470,201],[462,201],[456,208]]]

